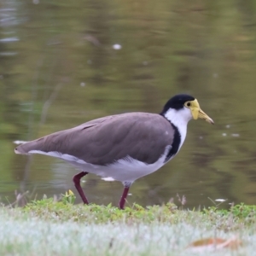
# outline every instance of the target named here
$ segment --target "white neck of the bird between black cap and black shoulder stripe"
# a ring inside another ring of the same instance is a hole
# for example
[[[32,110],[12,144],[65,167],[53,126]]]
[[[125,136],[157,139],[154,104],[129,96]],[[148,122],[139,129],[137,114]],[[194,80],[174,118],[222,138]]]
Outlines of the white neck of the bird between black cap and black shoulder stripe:
[[[166,111],[165,117],[172,123],[172,125],[175,125],[177,127],[177,130],[179,131],[181,137],[181,143],[179,145],[179,148],[181,148],[187,134],[187,125],[189,123],[189,120],[193,118],[190,109],[182,108],[176,110],[170,108]]]

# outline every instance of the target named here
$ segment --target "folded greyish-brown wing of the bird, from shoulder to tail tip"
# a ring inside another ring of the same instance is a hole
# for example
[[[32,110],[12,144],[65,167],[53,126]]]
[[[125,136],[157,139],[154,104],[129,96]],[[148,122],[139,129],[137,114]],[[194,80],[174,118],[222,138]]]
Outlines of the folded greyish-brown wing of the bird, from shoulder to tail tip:
[[[108,165],[126,156],[154,163],[172,145],[172,125],[159,114],[124,113],[95,119],[69,130],[55,132],[16,148],[71,154],[94,165]]]

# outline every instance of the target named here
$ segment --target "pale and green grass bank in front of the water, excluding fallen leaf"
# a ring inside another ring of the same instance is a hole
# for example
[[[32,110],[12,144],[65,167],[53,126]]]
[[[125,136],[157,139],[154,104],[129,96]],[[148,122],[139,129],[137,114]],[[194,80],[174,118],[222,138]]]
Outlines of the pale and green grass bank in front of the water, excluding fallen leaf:
[[[32,201],[26,207],[0,207],[0,255],[254,255],[256,207],[237,205],[203,211],[164,206],[73,205],[67,193]],[[187,248],[193,241],[236,236],[238,250],[203,253]]]

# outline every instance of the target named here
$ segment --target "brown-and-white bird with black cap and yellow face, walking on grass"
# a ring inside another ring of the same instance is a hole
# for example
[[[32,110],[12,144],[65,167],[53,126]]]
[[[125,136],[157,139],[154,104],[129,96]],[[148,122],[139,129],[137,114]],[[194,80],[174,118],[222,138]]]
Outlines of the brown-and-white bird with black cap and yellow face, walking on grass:
[[[81,172],[73,183],[84,204],[80,185],[88,173],[123,183],[119,209],[125,208],[131,184],[160,169],[183,145],[190,119],[213,120],[193,96],[172,96],[160,113],[119,113],[57,131],[15,148],[16,154],[45,154],[66,160]]]

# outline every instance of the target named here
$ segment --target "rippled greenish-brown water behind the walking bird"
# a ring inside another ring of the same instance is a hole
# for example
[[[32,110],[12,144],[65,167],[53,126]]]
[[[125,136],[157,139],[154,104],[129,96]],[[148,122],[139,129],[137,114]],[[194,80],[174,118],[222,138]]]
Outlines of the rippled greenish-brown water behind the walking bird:
[[[215,121],[189,123],[177,156],[137,180],[130,204],[256,201],[255,7],[233,1],[10,1],[0,6],[0,195],[31,198],[73,188],[61,160],[14,154],[31,140],[87,120],[159,113],[195,96]],[[117,204],[120,183],[88,175],[90,201]],[[210,199],[212,199],[212,201]],[[79,202],[79,198],[77,200]]]

